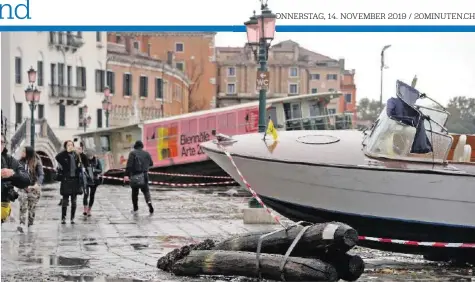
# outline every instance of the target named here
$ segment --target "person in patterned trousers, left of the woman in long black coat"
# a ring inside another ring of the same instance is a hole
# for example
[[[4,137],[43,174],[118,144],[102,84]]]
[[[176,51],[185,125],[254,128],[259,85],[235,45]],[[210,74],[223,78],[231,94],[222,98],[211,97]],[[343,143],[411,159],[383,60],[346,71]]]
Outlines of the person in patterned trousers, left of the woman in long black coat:
[[[21,152],[20,164],[25,168],[30,176],[30,186],[18,191],[20,202],[20,225],[17,230],[21,233],[25,230],[26,216],[28,214],[28,229],[35,221],[36,205],[41,196],[41,185],[43,185],[44,171],[40,157],[35,149],[26,146]]]

